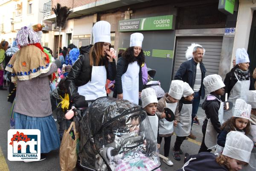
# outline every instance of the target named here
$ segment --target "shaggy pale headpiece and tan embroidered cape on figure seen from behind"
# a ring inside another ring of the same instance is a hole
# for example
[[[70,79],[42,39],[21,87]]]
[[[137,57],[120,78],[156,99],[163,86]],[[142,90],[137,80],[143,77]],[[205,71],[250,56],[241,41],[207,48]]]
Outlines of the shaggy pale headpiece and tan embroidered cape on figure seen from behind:
[[[17,32],[17,46],[20,47],[6,66],[12,72],[12,82],[31,80],[50,70],[49,55],[39,43],[37,34],[29,27]]]

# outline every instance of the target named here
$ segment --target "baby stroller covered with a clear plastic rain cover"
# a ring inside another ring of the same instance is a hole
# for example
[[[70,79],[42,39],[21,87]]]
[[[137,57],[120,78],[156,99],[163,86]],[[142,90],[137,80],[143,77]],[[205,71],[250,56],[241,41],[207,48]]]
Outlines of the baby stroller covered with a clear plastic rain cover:
[[[84,171],[160,171],[157,142],[137,104],[101,97],[79,121],[79,166]]]

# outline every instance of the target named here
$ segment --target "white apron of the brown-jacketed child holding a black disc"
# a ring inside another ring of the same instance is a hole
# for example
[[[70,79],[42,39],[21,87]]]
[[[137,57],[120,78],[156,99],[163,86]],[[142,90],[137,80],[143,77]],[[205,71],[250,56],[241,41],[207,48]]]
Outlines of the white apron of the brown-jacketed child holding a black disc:
[[[166,107],[172,110],[175,113],[177,102],[176,103],[166,103]],[[169,134],[173,133],[173,122],[167,121],[165,118],[159,120],[159,134]]]

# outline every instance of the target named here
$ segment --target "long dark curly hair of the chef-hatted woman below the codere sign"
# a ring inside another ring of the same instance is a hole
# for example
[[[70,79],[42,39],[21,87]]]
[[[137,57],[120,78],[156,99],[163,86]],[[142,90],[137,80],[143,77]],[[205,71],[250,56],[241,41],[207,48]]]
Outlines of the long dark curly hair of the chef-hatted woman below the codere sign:
[[[145,55],[143,49],[141,49],[140,54],[137,57],[135,57],[134,46],[128,47],[125,50],[125,52],[122,53],[122,57],[125,58],[125,60],[128,61],[129,64],[134,61],[137,61],[140,67],[145,62]]]

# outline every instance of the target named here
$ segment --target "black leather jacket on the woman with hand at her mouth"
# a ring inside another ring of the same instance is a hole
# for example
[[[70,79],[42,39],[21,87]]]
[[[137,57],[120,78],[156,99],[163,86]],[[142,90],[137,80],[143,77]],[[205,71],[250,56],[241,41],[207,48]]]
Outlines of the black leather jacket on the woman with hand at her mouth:
[[[70,101],[72,102],[73,96],[78,95],[77,87],[87,84],[91,80],[92,67],[90,66],[89,51],[93,45],[85,46],[80,49],[81,55],[72,66],[67,75],[65,86],[69,92]],[[108,62],[107,57],[102,61],[107,70],[107,78],[114,80],[116,78],[116,62]],[[108,64],[107,64],[108,63]],[[106,65],[107,64],[107,65]]]

